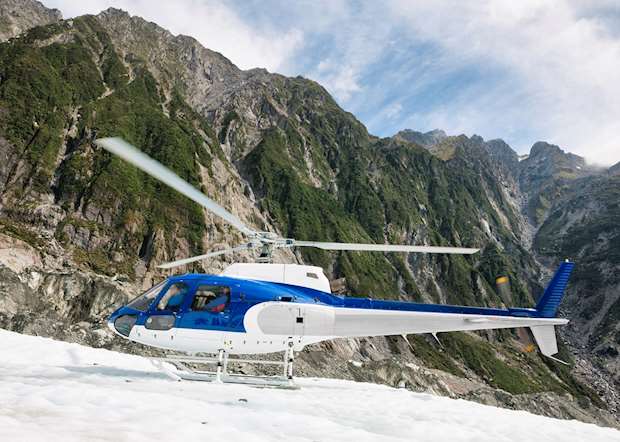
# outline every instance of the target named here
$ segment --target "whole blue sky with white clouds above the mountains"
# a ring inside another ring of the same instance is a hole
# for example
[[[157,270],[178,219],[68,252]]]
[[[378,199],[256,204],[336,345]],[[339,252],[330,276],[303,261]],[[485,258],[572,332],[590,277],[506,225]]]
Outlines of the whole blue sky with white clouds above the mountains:
[[[318,81],[379,136],[539,140],[620,161],[617,0],[43,0],[110,6],[195,37],[242,69]]]

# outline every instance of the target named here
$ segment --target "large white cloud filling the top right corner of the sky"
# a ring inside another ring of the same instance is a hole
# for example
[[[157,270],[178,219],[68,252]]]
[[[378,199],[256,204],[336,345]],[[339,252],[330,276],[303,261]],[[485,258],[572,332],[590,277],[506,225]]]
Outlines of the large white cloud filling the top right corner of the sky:
[[[392,8],[412,38],[441,45],[455,63],[510,72],[509,84],[457,100],[469,132],[494,126],[487,122],[522,126],[593,162],[620,160],[620,40],[596,16],[584,18],[566,1],[395,1]]]

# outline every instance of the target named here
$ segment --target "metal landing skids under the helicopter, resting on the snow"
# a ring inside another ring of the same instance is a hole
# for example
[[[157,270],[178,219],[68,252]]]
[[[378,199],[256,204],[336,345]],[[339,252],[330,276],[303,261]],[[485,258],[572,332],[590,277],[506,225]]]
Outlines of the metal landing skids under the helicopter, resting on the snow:
[[[174,380],[181,381],[205,381],[222,384],[243,384],[260,388],[284,388],[290,390],[299,389],[293,379],[293,349],[284,352],[282,361],[265,361],[255,359],[231,358],[225,350],[220,350],[217,357],[209,356],[167,356],[152,358],[157,367]],[[174,366],[170,369],[165,363]],[[255,365],[280,365],[282,375],[259,376],[234,373],[229,371],[229,364],[255,364]],[[192,365],[215,365],[215,371],[198,370]]]

